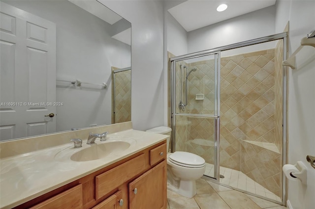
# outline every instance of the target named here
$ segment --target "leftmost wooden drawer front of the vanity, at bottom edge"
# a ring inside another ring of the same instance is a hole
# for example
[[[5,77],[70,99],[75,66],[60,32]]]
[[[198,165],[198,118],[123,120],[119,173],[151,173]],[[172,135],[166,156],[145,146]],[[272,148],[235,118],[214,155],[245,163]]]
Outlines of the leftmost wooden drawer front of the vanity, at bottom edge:
[[[82,206],[82,184],[79,184],[31,209],[82,209]]]

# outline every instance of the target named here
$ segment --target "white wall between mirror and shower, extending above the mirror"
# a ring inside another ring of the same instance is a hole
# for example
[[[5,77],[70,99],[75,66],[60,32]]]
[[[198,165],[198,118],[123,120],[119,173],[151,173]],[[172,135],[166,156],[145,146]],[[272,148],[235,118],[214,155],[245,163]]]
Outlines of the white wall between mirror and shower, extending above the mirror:
[[[163,2],[100,0],[131,22],[131,121],[145,131],[164,124]]]

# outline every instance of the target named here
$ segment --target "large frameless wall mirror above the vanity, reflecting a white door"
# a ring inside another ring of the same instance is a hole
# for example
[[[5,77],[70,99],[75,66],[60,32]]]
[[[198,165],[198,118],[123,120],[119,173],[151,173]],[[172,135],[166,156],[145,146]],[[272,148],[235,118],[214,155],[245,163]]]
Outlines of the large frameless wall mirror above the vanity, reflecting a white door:
[[[113,92],[127,87],[112,76],[131,69],[131,24],[96,0],[0,3],[0,140],[115,121]]]

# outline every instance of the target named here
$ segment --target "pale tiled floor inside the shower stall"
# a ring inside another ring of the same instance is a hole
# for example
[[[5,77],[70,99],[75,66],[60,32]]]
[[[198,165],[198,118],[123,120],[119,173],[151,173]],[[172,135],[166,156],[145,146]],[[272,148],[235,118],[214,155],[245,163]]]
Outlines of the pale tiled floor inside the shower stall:
[[[241,171],[220,166],[220,174],[224,176],[224,179],[220,179],[220,183],[281,202],[280,197],[278,197],[259,183],[253,181],[250,177],[246,176]],[[206,171],[204,175],[209,177],[214,176],[213,164],[206,163]]]

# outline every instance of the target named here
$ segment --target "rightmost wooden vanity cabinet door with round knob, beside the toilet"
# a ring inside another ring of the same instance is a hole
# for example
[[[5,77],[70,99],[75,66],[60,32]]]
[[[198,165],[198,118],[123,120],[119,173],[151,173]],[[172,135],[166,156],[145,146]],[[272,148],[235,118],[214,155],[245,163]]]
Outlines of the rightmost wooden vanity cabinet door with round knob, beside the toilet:
[[[166,160],[129,183],[129,209],[166,209]]]

